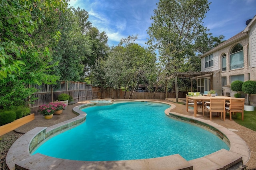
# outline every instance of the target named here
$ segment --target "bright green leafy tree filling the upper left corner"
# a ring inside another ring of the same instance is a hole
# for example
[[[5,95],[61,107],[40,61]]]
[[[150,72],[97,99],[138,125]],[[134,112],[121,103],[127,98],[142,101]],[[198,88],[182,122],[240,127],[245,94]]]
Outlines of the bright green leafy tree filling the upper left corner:
[[[58,80],[50,73],[57,64],[51,48],[60,37],[59,12],[67,6],[65,0],[0,2],[0,109],[31,102],[35,89],[29,84]]]

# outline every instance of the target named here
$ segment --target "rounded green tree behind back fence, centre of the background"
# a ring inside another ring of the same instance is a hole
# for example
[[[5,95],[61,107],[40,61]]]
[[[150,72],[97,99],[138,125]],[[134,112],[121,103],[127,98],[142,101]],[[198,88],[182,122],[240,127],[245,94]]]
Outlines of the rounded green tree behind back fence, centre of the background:
[[[121,39],[116,47],[112,47],[106,61],[94,68],[94,78],[100,86],[110,86],[134,91],[139,84],[148,84],[154,72],[156,54],[149,49],[134,43],[137,36]],[[95,80],[94,80],[95,81]],[[126,95],[126,93],[125,93]]]

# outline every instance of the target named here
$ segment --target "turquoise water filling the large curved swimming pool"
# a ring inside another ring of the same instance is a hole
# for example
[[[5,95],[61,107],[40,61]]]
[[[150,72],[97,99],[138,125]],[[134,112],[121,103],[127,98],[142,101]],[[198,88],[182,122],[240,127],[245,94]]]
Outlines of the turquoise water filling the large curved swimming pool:
[[[228,146],[212,133],[167,117],[169,105],[126,102],[82,109],[86,121],[41,145],[39,152],[70,160],[133,160],[180,154],[192,160]]]

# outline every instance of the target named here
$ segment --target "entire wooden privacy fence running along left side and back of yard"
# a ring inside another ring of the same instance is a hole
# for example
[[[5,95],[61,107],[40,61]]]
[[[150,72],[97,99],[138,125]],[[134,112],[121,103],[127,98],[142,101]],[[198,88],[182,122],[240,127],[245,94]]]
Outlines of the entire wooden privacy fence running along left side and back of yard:
[[[165,92],[124,92],[122,90],[115,90],[114,88],[92,87],[86,82],[62,81],[58,90],[52,89],[52,85],[42,84],[40,86],[32,86],[38,89],[34,97],[38,98],[34,104],[30,105],[31,112],[37,112],[39,106],[58,100],[58,95],[66,93],[72,96],[73,101],[69,104],[74,104],[84,100],[93,100],[101,98],[112,99],[165,99]],[[175,98],[175,92],[168,92],[167,98]],[[178,98],[186,98],[186,92],[178,92]]]

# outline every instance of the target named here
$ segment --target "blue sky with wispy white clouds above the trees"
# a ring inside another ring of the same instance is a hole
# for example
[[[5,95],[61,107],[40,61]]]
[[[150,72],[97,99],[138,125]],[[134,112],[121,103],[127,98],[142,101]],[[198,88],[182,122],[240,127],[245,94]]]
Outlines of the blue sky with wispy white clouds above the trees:
[[[138,35],[136,43],[146,46],[150,27],[159,0],[70,0],[70,6],[89,13],[89,20],[100,32],[105,31],[108,45],[118,45],[121,38]],[[213,36],[224,35],[225,40],[242,31],[245,22],[256,15],[256,0],[209,0],[210,11],[204,27]]]

